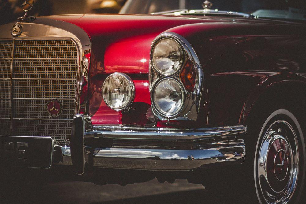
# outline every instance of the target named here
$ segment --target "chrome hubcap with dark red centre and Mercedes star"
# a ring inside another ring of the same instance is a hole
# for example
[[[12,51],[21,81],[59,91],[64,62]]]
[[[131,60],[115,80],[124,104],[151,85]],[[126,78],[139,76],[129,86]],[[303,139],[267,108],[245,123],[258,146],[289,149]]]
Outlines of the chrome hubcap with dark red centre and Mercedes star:
[[[258,158],[259,192],[267,203],[292,197],[299,167],[297,136],[286,121],[275,121],[264,135]]]

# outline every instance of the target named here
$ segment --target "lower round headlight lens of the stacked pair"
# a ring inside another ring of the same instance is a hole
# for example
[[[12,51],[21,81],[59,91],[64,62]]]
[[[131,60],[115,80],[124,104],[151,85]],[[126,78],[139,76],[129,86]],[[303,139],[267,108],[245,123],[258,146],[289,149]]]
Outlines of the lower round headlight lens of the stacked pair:
[[[153,104],[164,116],[176,115],[184,104],[184,92],[181,83],[174,78],[160,80],[153,90]]]

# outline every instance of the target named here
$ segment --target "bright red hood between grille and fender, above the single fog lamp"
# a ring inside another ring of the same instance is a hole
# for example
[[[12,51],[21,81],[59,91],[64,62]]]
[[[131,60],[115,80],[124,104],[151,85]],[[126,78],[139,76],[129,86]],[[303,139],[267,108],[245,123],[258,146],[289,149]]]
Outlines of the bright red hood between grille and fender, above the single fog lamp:
[[[91,76],[113,72],[147,73],[150,46],[160,33],[180,25],[233,22],[232,18],[155,15],[60,15],[40,17],[66,21],[91,39]],[[237,21],[248,19],[238,18]],[[250,21],[250,20],[248,20]]]

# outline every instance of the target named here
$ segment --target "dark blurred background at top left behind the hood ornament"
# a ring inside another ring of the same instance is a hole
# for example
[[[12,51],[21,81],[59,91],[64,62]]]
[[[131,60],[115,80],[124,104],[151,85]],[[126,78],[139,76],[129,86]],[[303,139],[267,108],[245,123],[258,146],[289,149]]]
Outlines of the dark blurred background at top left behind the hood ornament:
[[[21,5],[25,0],[0,0],[0,24],[24,15]],[[31,16],[80,13],[118,13],[126,0],[35,0],[28,12]]]

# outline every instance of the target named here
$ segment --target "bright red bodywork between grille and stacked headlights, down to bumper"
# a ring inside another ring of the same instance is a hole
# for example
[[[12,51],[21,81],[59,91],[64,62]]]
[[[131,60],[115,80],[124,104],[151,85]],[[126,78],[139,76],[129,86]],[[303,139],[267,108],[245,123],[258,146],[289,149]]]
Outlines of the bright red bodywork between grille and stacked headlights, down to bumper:
[[[157,35],[166,29],[182,24],[216,21],[201,18],[140,15],[67,15],[48,18],[75,24],[84,29],[91,38],[89,113],[92,115],[94,124],[122,124],[123,113],[110,109],[103,102],[100,88],[105,75],[116,71],[126,74],[145,74],[147,80],[150,46]],[[137,80],[134,78],[132,80],[136,86],[134,103],[144,102],[150,105],[148,87],[139,86],[140,83]],[[123,120],[123,124],[129,124],[126,121]],[[138,122],[137,124],[143,123]]]

